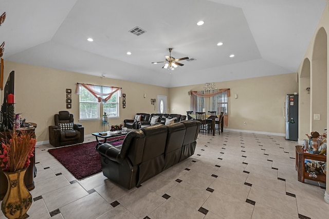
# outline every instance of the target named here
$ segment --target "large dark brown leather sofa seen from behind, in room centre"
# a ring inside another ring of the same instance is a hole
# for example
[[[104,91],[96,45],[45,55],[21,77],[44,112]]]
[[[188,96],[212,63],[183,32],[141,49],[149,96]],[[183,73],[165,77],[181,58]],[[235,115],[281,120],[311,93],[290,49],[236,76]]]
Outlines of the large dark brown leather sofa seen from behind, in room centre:
[[[199,121],[157,124],[128,133],[120,147],[98,148],[104,176],[131,189],[193,155]]]

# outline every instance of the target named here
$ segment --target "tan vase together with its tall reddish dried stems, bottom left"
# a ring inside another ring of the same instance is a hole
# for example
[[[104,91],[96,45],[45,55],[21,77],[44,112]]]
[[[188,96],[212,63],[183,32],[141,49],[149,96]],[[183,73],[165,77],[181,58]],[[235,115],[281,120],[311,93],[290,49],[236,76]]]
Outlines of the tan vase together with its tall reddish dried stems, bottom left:
[[[32,204],[32,195],[24,184],[24,175],[30,166],[36,140],[25,131],[10,133],[11,139],[2,139],[0,147],[0,168],[8,181],[7,193],[1,210],[8,218],[26,218]]]

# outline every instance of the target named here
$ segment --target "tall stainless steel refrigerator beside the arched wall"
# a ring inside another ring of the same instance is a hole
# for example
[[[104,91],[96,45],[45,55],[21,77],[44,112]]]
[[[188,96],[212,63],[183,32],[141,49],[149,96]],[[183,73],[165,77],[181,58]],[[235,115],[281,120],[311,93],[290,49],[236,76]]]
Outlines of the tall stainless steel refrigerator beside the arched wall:
[[[298,141],[298,95],[287,94],[284,108],[286,139]]]

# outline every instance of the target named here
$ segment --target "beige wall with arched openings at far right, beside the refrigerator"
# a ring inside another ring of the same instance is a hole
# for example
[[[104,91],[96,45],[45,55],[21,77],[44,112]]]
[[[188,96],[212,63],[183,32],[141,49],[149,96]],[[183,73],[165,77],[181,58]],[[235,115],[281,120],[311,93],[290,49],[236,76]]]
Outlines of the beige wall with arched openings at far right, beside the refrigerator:
[[[299,66],[299,78],[302,83],[300,83],[299,89],[301,90],[302,99],[310,99],[309,109],[304,111],[303,115],[305,117],[300,117],[299,125],[304,130],[304,127],[309,126],[309,131],[317,131],[320,134],[324,132],[324,128],[329,126],[329,56],[328,56],[328,45],[329,45],[329,5],[327,4],[325,10],[321,16],[319,24],[314,32],[313,38],[310,41],[303,60],[310,60],[308,66],[304,66],[303,62]],[[303,80],[305,77],[304,72],[310,69],[310,89],[311,93],[306,94],[302,92],[307,85],[307,81]],[[307,97],[310,95],[310,97]],[[309,116],[307,117],[307,112]],[[313,114],[320,114],[320,120],[314,120]],[[304,133],[300,133],[299,138],[303,139]],[[329,162],[329,156],[327,156],[327,163]],[[327,165],[327,172],[329,166]],[[326,175],[326,192],[324,195],[324,200],[329,204],[329,175]]]

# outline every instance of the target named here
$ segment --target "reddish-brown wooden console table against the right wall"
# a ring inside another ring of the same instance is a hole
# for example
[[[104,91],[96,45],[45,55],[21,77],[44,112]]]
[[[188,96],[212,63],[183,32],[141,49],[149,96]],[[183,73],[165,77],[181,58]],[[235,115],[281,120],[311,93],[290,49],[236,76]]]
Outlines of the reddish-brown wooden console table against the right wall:
[[[322,172],[312,174],[305,171],[305,159],[326,162],[326,156],[318,154],[305,153],[301,145],[296,145],[296,170],[298,171],[298,181],[304,182],[305,179],[325,183],[325,174]]]

